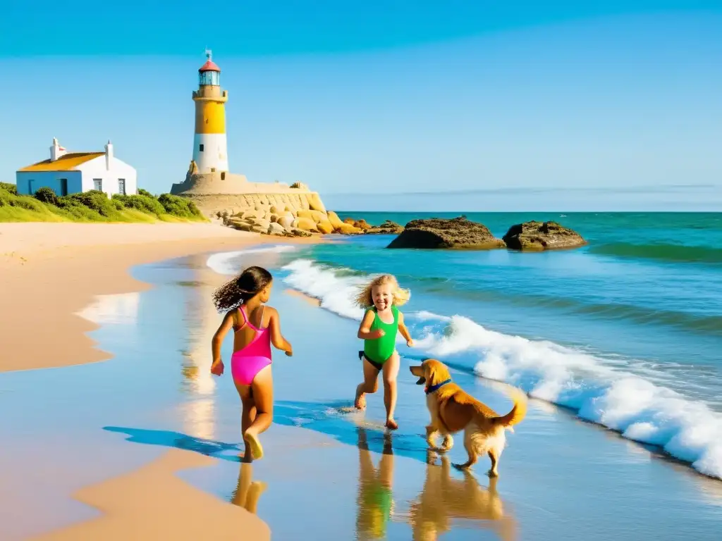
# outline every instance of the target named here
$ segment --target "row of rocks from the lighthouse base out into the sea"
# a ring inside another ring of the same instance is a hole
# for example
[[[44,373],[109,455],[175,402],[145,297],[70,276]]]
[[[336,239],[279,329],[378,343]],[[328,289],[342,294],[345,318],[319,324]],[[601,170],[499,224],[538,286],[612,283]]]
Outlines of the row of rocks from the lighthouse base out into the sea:
[[[580,234],[556,221],[526,221],[510,226],[498,239],[487,226],[458,216],[452,219],[430,218],[409,221],[401,226],[393,221],[373,226],[364,219],[341,220],[334,211],[296,209],[292,206],[259,202],[253,210],[217,216],[227,226],[278,237],[310,237],[314,234],[394,234],[387,248],[496,250],[521,252],[565,250],[586,245]]]

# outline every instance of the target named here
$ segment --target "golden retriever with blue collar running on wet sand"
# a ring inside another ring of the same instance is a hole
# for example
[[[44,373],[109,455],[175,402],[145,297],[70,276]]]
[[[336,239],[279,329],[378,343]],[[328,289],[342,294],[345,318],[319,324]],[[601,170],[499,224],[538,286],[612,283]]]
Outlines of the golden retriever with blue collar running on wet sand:
[[[465,470],[486,453],[492,461],[489,476],[499,475],[497,465],[506,444],[505,430],[511,429],[526,415],[526,395],[514,388],[511,392],[514,407],[506,415],[499,415],[453,383],[442,362],[426,359],[420,366],[409,366],[409,369],[419,378],[418,385],[426,384],[426,405],[431,415],[431,422],[426,427],[429,447],[438,449],[434,438],[441,434],[444,440],[438,450],[448,451],[453,446],[451,435],[463,430],[464,448],[469,459],[454,466]]]

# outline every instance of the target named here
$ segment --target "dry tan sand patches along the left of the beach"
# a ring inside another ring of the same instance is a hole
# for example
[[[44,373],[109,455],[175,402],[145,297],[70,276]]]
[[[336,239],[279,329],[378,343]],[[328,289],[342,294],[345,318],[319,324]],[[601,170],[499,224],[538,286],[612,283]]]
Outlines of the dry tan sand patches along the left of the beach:
[[[142,291],[148,284],[128,273],[133,265],[213,250],[237,250],[267,239],[218,224],[0,224],[0,371],[46,369],[110,358],[86,333],[97,325],[77,312],[97,295]],[[304,242],[303,240],[297,242]],[[308,242],[308,241],[306,241]],[[22,485],[30,464],[0,453],[0,537],[11,523],[31,521],[11,488]],[[213,462],[173,450],[139,470],[84,488],[74,498],[102,511],[90,522],[42,539],[269,539],[269,528],[238,506],[191,487],[180,469]],[[72,475],[71,472],[57,474]],[[98,472],[102,478],[102,472]],[[13,482],[15,481],[15,483]],[[67,495],[71,496],[71,495]],[[193,511],[192,513],[190,511]],[[194,518],[204,516],[202,521]]]

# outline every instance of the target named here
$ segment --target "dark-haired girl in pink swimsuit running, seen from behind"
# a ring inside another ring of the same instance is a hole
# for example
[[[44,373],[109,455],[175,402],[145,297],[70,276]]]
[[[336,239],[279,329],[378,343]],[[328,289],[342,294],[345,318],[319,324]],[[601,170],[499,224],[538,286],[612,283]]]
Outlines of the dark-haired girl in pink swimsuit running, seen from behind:
[[[264,456],[258,434],[273,421],[273,379],[271,378],[271,343],[292,356],[291,344],[281,334],[276,309],[266,307],[273,276],[265,268],[249,267],[240,276],[220,286],[213,294],[219,312],[227,310],[223,322],[213,335],[211,373],[223,374],[221,344],[233,329],[233,355],[230,372],[243,403],[240,427],[243,432],[245,462]]]

